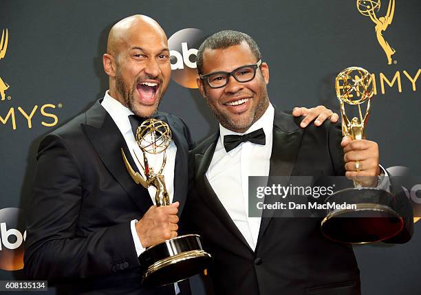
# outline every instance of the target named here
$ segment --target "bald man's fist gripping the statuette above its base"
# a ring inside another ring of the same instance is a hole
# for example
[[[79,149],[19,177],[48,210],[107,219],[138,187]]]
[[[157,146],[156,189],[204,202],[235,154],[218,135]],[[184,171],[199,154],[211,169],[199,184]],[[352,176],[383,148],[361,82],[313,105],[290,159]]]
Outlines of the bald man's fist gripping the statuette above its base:
[[[136,222],[136,232],[143,248],[177,237],[179,202],[169,206],[151,206]]]

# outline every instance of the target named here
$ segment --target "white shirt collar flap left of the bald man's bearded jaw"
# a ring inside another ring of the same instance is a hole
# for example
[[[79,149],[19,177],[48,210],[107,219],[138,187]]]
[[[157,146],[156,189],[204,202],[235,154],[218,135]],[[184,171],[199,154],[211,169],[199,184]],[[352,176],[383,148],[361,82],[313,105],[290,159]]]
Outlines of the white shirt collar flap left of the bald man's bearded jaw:
[[[133,115],[127,107],[122,105],[118,100],[109,95],[109,90],[105,91],[104,99],[101,102],[102,107],[113,118],[114,122],[122,134],[131,131],[129,115]]]

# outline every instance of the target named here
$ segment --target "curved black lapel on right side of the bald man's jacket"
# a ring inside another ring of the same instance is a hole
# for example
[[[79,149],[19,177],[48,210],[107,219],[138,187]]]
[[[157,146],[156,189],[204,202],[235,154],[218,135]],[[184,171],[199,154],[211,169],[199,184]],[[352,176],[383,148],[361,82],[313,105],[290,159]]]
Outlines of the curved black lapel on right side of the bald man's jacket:
[[[175,168],[174,168],[174,198],[173,202],[179,201],[178,215],[180,216],[186,203],[187,188],[188,188],[188,144],[182,126],[180,126],[171,117],[159,114],[154,116],[159,120],[167,122],[170,126],[173,135],[173,141],[177,146],[177,153],[175,154]]]

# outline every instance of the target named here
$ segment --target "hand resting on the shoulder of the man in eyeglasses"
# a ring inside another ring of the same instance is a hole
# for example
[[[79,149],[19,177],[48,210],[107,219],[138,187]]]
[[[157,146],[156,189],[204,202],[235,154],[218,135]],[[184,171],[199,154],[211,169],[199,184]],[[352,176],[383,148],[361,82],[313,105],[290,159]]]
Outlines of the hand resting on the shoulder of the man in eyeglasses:
[[[307,127],[310,122],[314,119],[314,125],[320,126],[325,122],[326,119],[330,119],[330,122],[336,123],[338,122],[339,116],[337,113],[334,113],[330,109],[326,109],[323,105],[319,105],[318,107],[312,107],[311,109],[307,109],[306,107],[294,107],[292,110],[292,116],[299,117],[305,116],[303,121],[301,121],[300,127],[305,128]]]

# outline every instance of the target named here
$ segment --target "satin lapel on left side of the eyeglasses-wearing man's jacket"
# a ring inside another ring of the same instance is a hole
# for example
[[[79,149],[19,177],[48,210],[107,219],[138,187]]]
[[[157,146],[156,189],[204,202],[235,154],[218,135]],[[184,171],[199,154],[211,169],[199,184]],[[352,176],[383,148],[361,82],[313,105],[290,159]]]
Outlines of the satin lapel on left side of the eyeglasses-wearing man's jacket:
[[[248,245],[246,239],[244,239],[243,234],[239,231],[233,219],[231,219],[230,215],[222,205],[221,201],[217,197],[215,191],[213,190],[212,186],[208,182],[206,178],[206,171],[208,171],[210,162],[212,161],[213,153],[215,152],[215,147],[217,144],[217,140],[219,139],[219,133],[215,136],[215,140],[208,146],[205,153],[196,154],[195,155],[195,182],[196,187],[199,195],[202,196],[205,203],[209,206],[209,208],[215,213],[217,218],[237,237],[250,251],[253,251]]]

